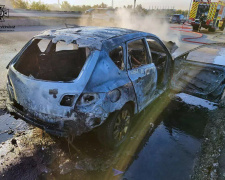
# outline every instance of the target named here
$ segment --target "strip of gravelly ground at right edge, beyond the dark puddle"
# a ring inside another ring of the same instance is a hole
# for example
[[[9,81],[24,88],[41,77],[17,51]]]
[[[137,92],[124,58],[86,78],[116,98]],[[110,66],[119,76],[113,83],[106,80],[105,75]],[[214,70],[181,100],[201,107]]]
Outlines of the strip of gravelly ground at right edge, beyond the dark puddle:
[[[223,108],[217,109],[209,116],[192,179],[214,180],[221,176],[219,159],[221,150],[225,147],[225,111]]]

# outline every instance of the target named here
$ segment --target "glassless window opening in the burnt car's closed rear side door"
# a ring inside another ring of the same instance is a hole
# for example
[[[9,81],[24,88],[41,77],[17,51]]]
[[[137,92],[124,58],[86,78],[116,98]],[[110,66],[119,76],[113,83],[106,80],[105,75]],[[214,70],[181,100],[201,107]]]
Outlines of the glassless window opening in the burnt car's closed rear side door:
[[[128,58],[132,69],[148,64],[147,51],[143,40],[128,43]]]

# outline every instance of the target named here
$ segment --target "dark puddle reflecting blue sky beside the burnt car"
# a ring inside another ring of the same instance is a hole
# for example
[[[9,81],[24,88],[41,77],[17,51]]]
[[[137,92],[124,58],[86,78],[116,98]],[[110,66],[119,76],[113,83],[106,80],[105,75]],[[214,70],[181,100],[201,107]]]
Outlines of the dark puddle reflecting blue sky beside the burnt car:
[[[172,110],[146,137],[124,174],[126,179],[190,179],[206,120],[200,111]]]

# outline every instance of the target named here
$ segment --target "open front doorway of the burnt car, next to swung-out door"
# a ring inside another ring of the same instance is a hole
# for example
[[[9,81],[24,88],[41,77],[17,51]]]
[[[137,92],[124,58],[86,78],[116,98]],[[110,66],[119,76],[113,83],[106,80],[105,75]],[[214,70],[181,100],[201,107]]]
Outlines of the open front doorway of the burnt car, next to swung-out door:
[[[167,54],[165,49],[155,40],[147,39],[151,50],[152,62],[155,64],[158,74],[157,85],[160,86],[164,82],[164,74],[166,69]]]

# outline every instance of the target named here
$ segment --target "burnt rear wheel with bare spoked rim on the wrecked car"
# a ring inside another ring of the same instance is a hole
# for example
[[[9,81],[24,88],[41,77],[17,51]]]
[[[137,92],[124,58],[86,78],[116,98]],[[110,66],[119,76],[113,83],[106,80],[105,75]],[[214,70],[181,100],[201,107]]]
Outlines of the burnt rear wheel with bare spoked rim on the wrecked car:
[[[133,111],[129,104],[126,104],[121,110],[113,112],[98,128],[98,141],[110,149],[119,147],[130,130],[132,116]]]

